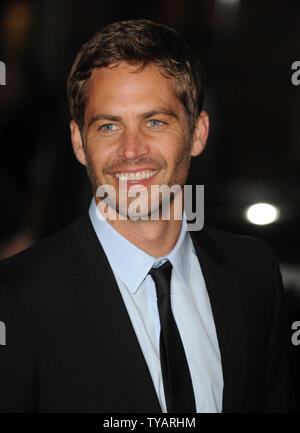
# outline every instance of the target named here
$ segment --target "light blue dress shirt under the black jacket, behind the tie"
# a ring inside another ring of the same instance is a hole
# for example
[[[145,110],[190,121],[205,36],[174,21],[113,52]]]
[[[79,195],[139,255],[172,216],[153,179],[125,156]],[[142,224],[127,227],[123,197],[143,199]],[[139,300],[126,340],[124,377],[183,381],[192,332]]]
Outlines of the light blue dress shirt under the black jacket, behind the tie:
[[[173,266],[171,307],[189,364],[197,412],[221,412],[219,344],[201,267],[186,230],[185,213],[174,248],[160,258],[124,238],[103,218],[94,199],[89,216],[118,283],[162,411],[167,412],[159,357],[160,321],[155,284],[148,272],[169,260]]]

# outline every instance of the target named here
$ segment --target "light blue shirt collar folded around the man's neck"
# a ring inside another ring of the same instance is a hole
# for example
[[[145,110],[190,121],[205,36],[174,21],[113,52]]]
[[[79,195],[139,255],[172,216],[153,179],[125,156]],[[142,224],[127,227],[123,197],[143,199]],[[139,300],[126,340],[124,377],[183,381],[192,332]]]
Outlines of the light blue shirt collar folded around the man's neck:
[[[104,249],[110,266],[126,287],[135,294],[152,266],[169,260],[183,287],[187,287],[190,269],[189,248],[191,239],[187,232],[186,215],[183,212],[181,231],[174,248],[162,257],[153,257],[122,236],[96,207],[93,198],[89,216]]]

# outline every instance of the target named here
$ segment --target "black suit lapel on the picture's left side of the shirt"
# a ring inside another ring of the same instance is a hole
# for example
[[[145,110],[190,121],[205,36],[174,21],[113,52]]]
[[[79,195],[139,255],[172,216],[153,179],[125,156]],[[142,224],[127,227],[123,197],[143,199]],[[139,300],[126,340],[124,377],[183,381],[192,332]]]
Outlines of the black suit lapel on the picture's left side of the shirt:
[[[101,341],[106,355],[113,357],[112,362],[117,365],[111,387],[118,394],[122,383],[121,395],[125,409],[128,402],[127,411],[139,408],[139,411],[161,412],[149,369],[107,257],[89,217],[83,215],[78,223],[75,235],[71,236],[71,267],[73,272],[80,269],[86,275],[78,294],[82,297],[79,302],[86,305],[87,321],[89,317],[96,318],[95,339]]]

